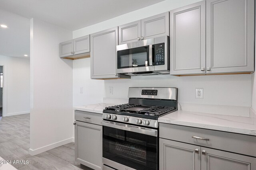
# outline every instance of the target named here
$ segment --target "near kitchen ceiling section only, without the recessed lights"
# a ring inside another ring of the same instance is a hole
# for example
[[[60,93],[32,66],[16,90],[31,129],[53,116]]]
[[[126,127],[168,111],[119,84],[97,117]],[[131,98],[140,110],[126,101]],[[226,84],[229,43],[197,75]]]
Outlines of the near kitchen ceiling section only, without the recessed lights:
[[[76,30],[163,0],[0,0],[0,9]]]

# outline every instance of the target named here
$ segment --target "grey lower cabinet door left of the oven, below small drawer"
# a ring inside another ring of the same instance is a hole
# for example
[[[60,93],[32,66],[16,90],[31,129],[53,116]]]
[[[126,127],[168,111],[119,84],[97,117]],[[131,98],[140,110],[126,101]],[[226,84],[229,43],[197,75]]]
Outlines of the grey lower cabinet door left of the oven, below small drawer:
[[[95,170],[102,169],[102,126],[75,121],[75,159]]]

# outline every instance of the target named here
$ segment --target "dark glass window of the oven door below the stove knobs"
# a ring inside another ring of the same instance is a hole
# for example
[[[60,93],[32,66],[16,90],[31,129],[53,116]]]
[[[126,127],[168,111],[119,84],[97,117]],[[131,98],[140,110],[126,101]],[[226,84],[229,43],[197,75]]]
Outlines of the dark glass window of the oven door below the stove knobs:
[[[137,170],[158,169],[158,138],[103,126],[103,157]]]

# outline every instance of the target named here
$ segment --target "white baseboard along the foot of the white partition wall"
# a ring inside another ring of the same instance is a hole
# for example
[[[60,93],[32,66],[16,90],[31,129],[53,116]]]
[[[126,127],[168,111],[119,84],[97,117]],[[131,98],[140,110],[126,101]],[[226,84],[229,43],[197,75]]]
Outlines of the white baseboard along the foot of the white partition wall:
[[[47,145],[45,147],[41,147],[41,148],[38,148],[38,149],[34,149],[34,150],[33,149],[29,149],[28,153],[31,154],[32,156],[34,156],[36,154],[40,154],[40,153],[45,152],[47,150],[54,149],[56,147],[60,147],[62,145],[70,143],[72,141],[73,141],[73,138],[65,139],[63,141],[59,141],[59,142],[56,142],[56,143],[53,143],[53,144],[50,144],[50,145]]]

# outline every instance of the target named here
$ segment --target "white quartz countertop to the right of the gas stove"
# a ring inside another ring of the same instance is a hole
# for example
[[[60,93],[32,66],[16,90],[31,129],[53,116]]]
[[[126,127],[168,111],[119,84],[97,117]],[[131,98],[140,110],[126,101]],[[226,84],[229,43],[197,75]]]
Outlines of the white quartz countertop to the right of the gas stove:
[[[256,136],[256,113],[253,109],[250,109],[248,117],[175,111],[158,118],[158,122]]]

